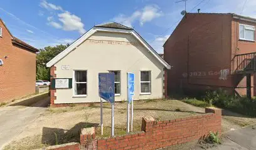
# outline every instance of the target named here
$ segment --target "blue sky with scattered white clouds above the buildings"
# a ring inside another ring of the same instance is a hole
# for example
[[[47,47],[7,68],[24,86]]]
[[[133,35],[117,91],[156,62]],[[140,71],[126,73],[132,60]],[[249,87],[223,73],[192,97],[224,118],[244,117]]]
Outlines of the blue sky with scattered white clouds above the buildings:
[[[115,21],[134,27],[157,52],[163,53],[163,43],[184,9],[184,2],[175,1],[1,0],[0,17],[14,36],[37,48],[73,42],[95,24]],[[256,1],[245,1],[188,0],[187,11],[200,8],[201,12],[235,12],[256,17]]]

